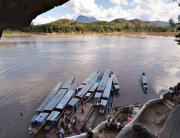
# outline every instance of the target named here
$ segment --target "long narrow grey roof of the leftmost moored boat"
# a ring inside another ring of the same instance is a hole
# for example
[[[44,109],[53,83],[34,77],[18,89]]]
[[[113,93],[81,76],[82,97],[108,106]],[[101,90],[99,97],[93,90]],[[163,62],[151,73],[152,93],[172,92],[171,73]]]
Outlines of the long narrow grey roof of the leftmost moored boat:
[[[48,94],[48,96],[44,99],[41,105],[36,110],[37,112],[43,112],[44,107],[52,100],[52,98],[56,95],[62,83],[58,83],[54,89]]]

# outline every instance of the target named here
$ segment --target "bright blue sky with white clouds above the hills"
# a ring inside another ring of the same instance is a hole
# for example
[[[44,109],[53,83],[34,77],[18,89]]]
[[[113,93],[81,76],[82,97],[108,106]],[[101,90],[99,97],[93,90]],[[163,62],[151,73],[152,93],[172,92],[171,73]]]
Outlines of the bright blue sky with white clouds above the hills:
[[[116,18],[141,19],[144,21],[175,21],[180,13],[173,0],[69,0],[36,17],[33,24],[44,24],[58,19],[76,19],[79,15],[111,21]]]

